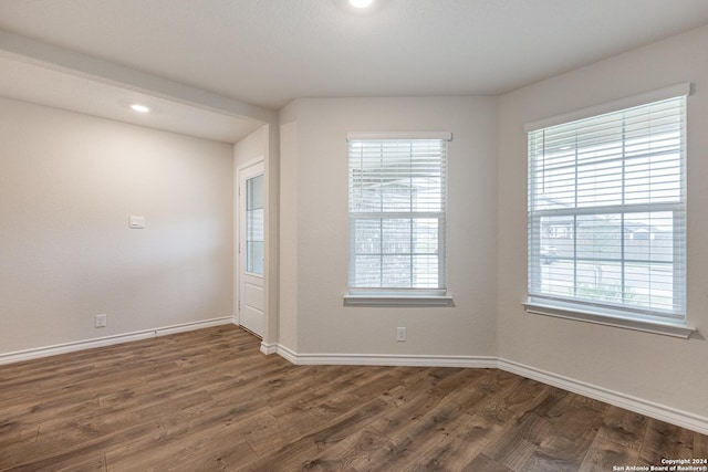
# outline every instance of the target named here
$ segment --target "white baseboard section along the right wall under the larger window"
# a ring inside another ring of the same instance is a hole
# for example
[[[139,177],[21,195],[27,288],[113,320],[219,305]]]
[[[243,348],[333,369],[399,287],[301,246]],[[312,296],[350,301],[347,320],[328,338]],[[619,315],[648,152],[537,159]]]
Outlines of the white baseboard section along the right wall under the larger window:
[[[610,390],[570,377],[549,373],[546,370],[537,369],[535,367],[519,364],[512,360],[499,359],[498,367],[511,374],[538,380],[540,382],[558,387],[573,394],[583,395],[585,397],[614,405],[636,413],[666,421],[681,428],[697,431],[701,434],[708,434],[708,418],[698,415],[681,411],[676,408],[655,403],[620,391]]]

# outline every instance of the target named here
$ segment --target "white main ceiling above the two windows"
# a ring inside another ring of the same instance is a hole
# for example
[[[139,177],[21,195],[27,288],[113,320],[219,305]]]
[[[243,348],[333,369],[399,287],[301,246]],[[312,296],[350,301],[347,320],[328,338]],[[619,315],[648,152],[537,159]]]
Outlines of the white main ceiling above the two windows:
[[[0,0],[0,30],[272,109],[498,95],[704,24],[706,0],[376,0],[367,13],[346,0]],[[31,94],[8,82],[0,94]]]

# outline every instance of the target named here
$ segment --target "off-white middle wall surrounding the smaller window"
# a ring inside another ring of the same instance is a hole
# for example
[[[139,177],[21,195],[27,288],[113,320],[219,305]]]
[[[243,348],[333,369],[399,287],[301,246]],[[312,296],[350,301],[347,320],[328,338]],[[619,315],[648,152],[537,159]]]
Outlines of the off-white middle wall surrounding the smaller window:
[[[497,99],[298,99],[281,123],[281,344],[298,354],[493,355]],[[447,279],[455,307],[343,306],[346,133],[395,130],[454,134]],[[406,343],[396,343],[397,326],[407,327]]]

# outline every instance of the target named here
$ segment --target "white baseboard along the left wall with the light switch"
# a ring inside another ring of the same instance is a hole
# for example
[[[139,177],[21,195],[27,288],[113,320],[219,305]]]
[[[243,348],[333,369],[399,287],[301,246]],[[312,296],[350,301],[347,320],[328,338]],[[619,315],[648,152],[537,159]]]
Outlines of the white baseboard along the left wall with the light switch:
[[[186,333],[212,326],[233,324],[232,316],[204,319],[199,322],[183,323],[178,325],[163,326],[153,329],[97,337],[93,339],[76,340],[73,343],[56,344],[53,346],[37,347],[32,349],[15,350],[0,354],[0,365],[21,363],[23,360],[39,359],[77,350],[93,349],[95,347],[112,346],[114,344],[129,343],[133,340],[149,339],[153,337],[168,336],[170,334]]]

